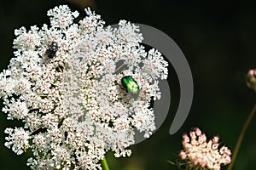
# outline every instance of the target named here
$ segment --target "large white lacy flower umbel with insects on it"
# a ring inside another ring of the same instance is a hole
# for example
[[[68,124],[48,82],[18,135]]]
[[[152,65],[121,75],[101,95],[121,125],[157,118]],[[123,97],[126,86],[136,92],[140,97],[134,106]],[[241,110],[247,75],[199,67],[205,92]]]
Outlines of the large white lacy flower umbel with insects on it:
[[[137,26],[104,27],[100,15],[85,12],[73,23],[78,12],[55,7],[50,26],[15,30],[15,58],[0,74],[3,112],[25,123],[5,130],[5,145],[18,155],[31,149],[32,169],[101,169],[108,150],[131,155],[134,129],[146,138],[155,129],[150,99],[160,99],[167,62],[144,50]],[[136,81],[137,95],[121,83],[125,76]]]

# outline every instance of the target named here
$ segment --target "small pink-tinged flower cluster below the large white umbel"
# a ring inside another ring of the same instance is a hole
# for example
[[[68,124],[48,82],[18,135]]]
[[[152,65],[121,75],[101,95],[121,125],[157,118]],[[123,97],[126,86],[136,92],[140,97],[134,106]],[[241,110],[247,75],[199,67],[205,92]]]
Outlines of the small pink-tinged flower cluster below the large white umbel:
[[[195,127],[189,135],[183,134],[183,150],[179,156],[189,161],[189,167],[219,170],[221,166],[231,162],[231,151],[226,146],[220,147],[218,140],[219,137],[214,136],[207,142],[206,134],[201,133],[201,130]]]

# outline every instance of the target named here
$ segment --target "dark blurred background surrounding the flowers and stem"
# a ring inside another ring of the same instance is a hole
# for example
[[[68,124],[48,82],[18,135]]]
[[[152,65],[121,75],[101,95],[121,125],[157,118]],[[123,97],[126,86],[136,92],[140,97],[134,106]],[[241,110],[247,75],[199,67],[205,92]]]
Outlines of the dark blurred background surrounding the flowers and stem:
[[[174,160],[182,149],[182,134],[191,127],[201,127],[207,137],[218,134],[220,141],[234,150],[255,95],[245,84],[247,70],[256,67],[256,11],[253,3],[241,1],[141,0],[1,0],[0,1],[0,57],[1,71],[12,58],[14,30],[20,26],[49,24],[46,12],[56,5],[68,4],[84,16],[90,6],[102,15],[107,25],[130,20],[166,32],[177,42],[188,59],[195,83],[193,105],[188,119],[177,133],[169,129],[177,111],[179,85],[170,66],[169,83],[172,103],[164,124],[143,143],[131,146],[132,156],[114,159],[108,153],[111,170],[176,169],[167,160]],[[241,144],[235,170],[256,167],[256,117],[253,117]],[[20,126],[20,122],[6,121],[0,114],[0,169],[29,169],[26,159],[4,146],[6,127]]]

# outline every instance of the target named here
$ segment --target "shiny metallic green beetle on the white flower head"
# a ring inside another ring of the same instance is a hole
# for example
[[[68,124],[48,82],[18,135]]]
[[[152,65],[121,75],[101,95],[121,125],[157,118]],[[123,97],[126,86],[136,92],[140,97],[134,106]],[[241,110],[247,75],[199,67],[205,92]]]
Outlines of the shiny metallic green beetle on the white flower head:
[[[127,93],[139,94],[140,88],[137,82],[131,76],[125,76],[121,79],[123,88],[125,88]]]

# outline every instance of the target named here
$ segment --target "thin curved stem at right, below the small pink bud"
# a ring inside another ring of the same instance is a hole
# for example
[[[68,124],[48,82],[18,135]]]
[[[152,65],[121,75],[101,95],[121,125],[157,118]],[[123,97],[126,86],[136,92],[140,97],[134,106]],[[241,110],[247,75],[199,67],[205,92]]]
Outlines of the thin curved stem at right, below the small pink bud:
[[[235,150],[233,152],[233,156],[232,156],[232,159],[231,159],[230,166],[228,167],[228,170],[231,170],[233,165],[234,165],[234,162],[236,160],[236,156],[237,156],[238,150],[239,150],[240,145],[241,145],[241,141],[243,139],[244,134],[247,131],[248,125],[250,124],[250,122],[253,119],[253,115],[254,115],[255,112],[256,112],[256,103],[254,104],[253,110],[250,112],[250,115],[247,117],[247,122],[245,122],[245,124],[243,125],[243,127],[241,129],[241,133],[240,133],[240,136],[239,136],[239,138],[238,138],[238,140],[236,142],[236,147],[235,147]]]

